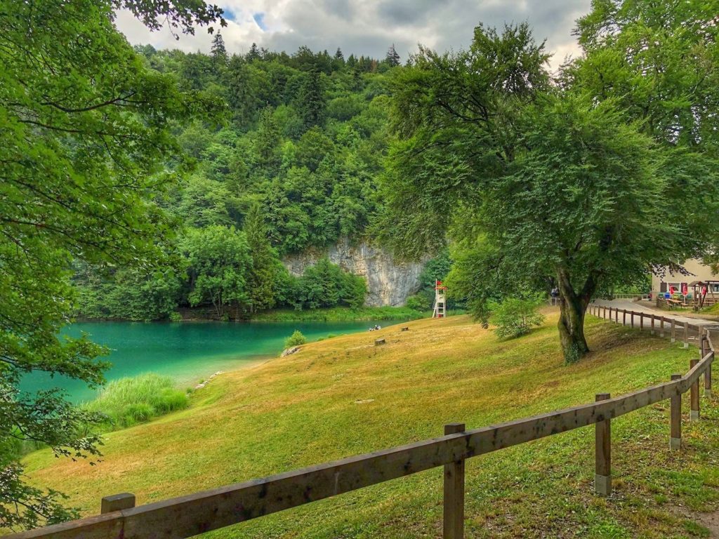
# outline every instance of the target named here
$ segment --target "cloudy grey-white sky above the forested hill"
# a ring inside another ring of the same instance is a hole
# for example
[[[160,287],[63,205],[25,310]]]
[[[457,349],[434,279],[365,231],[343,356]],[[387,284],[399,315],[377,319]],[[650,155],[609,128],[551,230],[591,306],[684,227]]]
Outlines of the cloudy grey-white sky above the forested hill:
[[[501,26],[528,21],[535,37],[546,39],[554,53],[552,65],[576,55],[574,21],[585,14],[590,0],[214,0],[225,11],[228,26],[221,30],[229,52],[247,52],[252,42],[270,50],[293,52],[300,45],[345,57],[384,57],[393,43],[403,60],[417,43],[435,50],[464,48],[479,22]],[[176,41],[168,29],[149,32],[127,13],[117,26],[133,43],[156,48],[209,51],[211,36],[198,29]]]

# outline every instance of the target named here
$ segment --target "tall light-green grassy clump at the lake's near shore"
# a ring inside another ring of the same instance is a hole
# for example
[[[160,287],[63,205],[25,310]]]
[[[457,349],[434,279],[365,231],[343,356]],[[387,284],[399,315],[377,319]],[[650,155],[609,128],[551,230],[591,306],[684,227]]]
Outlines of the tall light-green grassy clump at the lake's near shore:
[[[187,392],[178,390],[170,377],[142,374],[113,380],[99,397],[82,407],[107,416],[110,428],[124,428],[187,407]]]

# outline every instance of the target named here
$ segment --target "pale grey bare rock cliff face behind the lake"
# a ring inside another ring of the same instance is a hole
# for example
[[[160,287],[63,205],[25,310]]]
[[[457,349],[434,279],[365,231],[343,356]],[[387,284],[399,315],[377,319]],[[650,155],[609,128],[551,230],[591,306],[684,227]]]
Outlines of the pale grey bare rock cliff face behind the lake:
[[[325,255],[343,270],[365,277],[365,305],[404,305],[407,298],[419,290],[423,264],[395,262],[388,252],[367,244],[352,245],[340,241],[326,252],[311,250],[288,255],[283,264],[293,275],[302,275],[306,267],[316,264]]]

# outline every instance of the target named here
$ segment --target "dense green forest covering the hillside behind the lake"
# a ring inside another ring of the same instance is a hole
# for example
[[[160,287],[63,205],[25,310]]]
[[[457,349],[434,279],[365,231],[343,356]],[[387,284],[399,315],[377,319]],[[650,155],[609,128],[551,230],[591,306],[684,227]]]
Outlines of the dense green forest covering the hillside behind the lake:
[[[296,277],[280,257],[370,234],[381,207],[389,80],[401,69],[394,47],[384,60],[255,45],[230,56],[218,33],[209,55],[135,50],[147,68],[224,112],[219,121],[172,126],[185,155],[168,167],[188,172],[158,201],[175,224],[167,257],[152,268],[78,266],[78,315],[154,320],[199,307],[221,319],[362,305],[362,277],[327,259]],[[426,288],[432,278],[423,276]],[[429,301],[425,292],[411,305]]]

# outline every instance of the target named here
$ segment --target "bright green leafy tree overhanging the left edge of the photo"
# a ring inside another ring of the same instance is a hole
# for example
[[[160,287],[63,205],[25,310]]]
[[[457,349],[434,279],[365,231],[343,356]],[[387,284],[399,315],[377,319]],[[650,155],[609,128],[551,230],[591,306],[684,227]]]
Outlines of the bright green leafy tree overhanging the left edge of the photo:
[[[41,371],[101,383],[101,347],[60,336],[71,264],[159,257],[169,227],[153,197],[174,175],[170,124],[215,108],[145,66],[114,27],[117,8],[184,32],[221,14],[196,0],[0,1],[0,528],[71,515],[58,493],[24,483],[17,443],[97,454],[99,439],[81,434],[95,418],[19,381]]]

